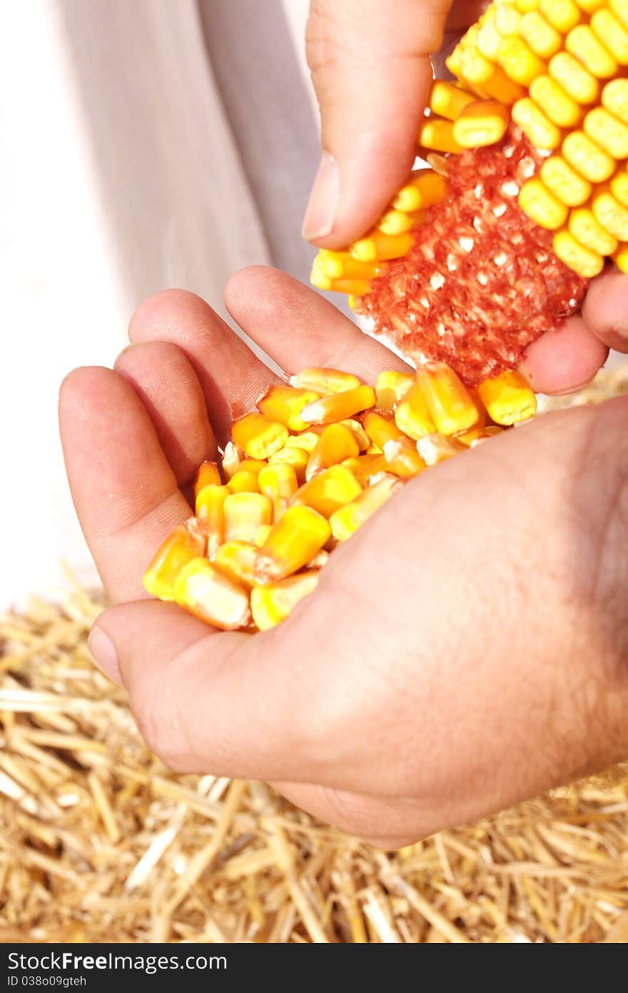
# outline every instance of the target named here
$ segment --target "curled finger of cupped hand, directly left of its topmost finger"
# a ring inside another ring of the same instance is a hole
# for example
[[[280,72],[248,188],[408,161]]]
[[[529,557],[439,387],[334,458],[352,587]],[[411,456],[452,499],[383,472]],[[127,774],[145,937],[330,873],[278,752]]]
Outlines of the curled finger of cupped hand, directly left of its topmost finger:
[[[186,290],[166,290],[145,300],[131,319],[129,339],[172,342],[188,356],[220,442],[231,421],[277,381],[211,307]]]

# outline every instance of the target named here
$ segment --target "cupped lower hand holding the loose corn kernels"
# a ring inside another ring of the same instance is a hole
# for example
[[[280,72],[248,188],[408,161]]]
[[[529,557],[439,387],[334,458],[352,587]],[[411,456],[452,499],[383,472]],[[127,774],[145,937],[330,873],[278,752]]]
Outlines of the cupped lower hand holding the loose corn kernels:
[[[288,372],[403,362],[263,268],[226,290]],[[72,496],[115,605],[90,637],[180,772],[273,782],[396,847],[628,753],[628,398],[551,414],[429,470],[331,556],[281,626],[218,633],[142,574],[232,416],[273,380],[199,298],[147,300],[114,370],[63,381]]]

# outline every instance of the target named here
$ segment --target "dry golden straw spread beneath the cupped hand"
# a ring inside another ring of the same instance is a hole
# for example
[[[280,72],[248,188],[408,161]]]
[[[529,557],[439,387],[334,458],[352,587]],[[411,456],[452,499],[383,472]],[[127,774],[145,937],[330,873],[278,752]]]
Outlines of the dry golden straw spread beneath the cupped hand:
[[[626,369],[586,399],[611,391]],[[628,941],[625,770],[376,851],[170,773],[89,658],[101,607],[73,586],[0,626],[0,940]]]

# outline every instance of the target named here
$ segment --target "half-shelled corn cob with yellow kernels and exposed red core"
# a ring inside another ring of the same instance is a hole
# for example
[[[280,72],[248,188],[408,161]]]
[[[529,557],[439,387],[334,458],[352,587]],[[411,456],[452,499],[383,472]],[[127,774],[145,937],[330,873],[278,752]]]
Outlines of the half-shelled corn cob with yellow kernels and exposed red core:
[[[494,0],[447,67],[418,136],[435,168],[371,231],[321,250],[312,281],[349,293],[418,366],[445,363],[505,408],[503,375],[577,311],[605,260],[628,272],[628,0]],[[451,398],[438,415],[418,399],[397,425],[446,433]]]

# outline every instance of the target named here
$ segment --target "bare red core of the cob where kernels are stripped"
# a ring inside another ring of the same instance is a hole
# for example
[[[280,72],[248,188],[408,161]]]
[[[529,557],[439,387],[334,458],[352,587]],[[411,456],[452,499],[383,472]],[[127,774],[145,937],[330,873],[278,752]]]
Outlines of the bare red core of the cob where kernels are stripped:
[[[578,310],[588,280],[554,253],[553,232],[519,208],[541,164],[520,128],[446,159],[447,196],[355,306],[406,355],[444,361],[473,385]]]

